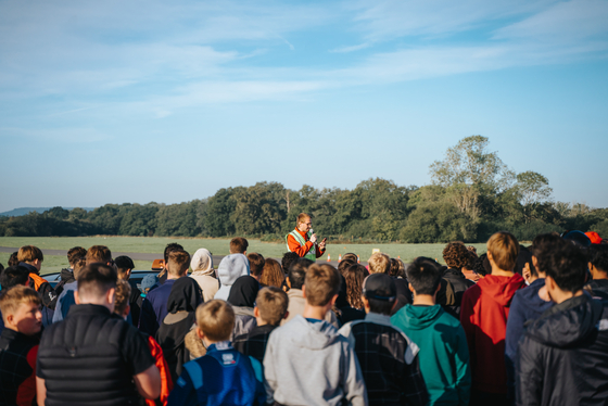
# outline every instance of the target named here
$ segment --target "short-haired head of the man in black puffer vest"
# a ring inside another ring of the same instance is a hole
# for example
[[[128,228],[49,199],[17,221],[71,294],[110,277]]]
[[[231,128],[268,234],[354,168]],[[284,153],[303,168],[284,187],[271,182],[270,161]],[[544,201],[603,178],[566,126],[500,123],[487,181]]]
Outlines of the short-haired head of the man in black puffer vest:
[[[76,304],[97,304],[114,310],[114,296],[118,275],[111,266],[93,263],[78,275],[78,290],[74,292]]]

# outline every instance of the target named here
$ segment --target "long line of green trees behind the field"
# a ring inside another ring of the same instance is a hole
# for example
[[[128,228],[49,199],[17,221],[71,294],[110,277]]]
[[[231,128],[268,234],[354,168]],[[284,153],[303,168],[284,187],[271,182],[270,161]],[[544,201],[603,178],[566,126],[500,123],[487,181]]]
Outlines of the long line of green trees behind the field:
[[[543,175],[516,174],[489,139],[464,138],[430,166],[431,185],[397,186],[368,179],[354,189],[291,190],[278,182],[224,188],[179,204],[105,204],[91,212],[53,207],[0,217],[0,236],[232,237],[282,240],[299,213],[315,232],[340,241],[433,243],[485,241],[509,230],[524,241],[548,231],[579,229],[608,236],[608,208],[555,202]]]

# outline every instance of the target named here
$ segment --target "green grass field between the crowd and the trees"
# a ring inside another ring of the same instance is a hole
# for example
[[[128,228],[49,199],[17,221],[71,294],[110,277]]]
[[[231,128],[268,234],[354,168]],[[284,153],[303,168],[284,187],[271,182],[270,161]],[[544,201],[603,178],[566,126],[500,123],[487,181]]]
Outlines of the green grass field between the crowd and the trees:
[[[262,242],[259,240],[248,240],[248,252],[258,252],[266,257],[280,258],[287,252],[286,244]],[[198,249],[205,248],[215,255],[228,255],[228,239],[186,239],[186,238],[156,238],[156,237],[0,237],[0,246],[36,245],[40,249],[69,250],[73,246],[89,248],[91,245],[106,245],[112,252],[139,252],[159,253],[162,257],[165,245],[177,242],[186,251],[193,254]],[[478,250],[478,254],[485,252],[485,244],[471,244]],[[338,261],[340,254],[347,252],[360,256],[362,262],[367,261],[375,249],[380,250],[391,257],[401,256],[404,262],[409,262],[417,256],[429,256],[438,258],[443,263],[442,251],[445,244],[328,244],[327,253],[321,259],[331,255],[331,261]],[[0,263],[7,266],[9,253],[0,253]],[[149,261],[136,261],[137,269],[150,269],[152,263]],[[215,264],[217,266],[217,264]],[[42,263],[42,274],[55,272],[67,266],[65,256],[46,255]]]

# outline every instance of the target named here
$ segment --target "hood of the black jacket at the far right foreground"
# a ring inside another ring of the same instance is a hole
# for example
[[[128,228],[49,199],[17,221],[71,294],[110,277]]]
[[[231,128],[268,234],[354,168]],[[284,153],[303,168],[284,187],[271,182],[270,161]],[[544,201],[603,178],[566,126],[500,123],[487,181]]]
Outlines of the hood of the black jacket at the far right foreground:
[[[601,302],[583,293],[546,310],[528,326],[527,335],[553,347],[577,345],[597,331],[603,313]]]

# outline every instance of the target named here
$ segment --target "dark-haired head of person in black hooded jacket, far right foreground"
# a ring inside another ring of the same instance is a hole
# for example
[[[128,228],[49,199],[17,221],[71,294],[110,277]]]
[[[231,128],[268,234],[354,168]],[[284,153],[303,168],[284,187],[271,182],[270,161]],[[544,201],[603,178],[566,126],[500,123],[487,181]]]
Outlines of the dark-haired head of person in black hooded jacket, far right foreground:
[[[545,286],[552,300],[561,303],[582,293],[586,280],[587,258],[580,248],[565,243],[547,254],[549,266]]]

